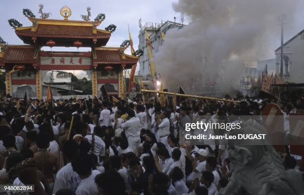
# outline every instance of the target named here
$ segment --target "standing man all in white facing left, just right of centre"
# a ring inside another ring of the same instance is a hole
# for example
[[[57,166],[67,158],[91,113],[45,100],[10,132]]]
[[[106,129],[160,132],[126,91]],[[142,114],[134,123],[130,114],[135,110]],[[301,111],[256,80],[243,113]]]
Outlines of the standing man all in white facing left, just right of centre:
[[[168,136],[170,134],[170,121],[169,114],[167,112],[161,112],[156,125],[158,142],[163,143],[165,146],[168,145]]]

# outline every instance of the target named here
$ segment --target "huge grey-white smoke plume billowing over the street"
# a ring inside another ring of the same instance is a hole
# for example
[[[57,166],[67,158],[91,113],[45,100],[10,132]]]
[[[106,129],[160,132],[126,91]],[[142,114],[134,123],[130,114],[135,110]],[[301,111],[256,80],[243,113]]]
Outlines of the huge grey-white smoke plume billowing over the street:
[[[278,16],[288,14],[287,25],[292,26],[290,18],[303,10],[300,4],[303,5],[301,0],[178,0],[173,3],[176,12],[184,12],[194,22],[168,31],[165,42],[155,53],[156,72],[160,73],[164,88],[176,91],[178,85],[182,85],[188,89],[190,78],[199,78],[200,82],[218,78],[221,64],[235,60],[238,62],[229,63],[221,81],[224,88],[230,88],[241,79],[241,62],[274,55],[276,48],[269,45],[274,40],[280,43]]]

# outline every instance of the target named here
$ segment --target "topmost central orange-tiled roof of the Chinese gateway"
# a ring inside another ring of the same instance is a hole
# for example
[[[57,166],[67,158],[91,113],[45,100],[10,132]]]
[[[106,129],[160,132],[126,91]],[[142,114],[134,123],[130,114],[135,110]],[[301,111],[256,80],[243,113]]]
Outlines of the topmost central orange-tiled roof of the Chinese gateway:
[[[74,47],[75,41],[82,42],[82,47],[100,47],[111,37],[111,32],[97,29],[101,21],[28,19],[33,25],[17,27],[15,33],[29,45],[46,46],[52,40],[59,47]]]

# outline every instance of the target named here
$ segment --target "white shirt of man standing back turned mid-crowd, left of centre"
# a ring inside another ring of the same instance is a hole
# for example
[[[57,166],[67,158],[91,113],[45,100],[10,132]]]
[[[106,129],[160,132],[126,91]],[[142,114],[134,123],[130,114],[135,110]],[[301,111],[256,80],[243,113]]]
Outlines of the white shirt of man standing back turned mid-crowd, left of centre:
[[[121,124],[121,128],[125,130],[126,137],[139,137],[140,136],[140,128],[141,122],[138,117],[133,117]]]

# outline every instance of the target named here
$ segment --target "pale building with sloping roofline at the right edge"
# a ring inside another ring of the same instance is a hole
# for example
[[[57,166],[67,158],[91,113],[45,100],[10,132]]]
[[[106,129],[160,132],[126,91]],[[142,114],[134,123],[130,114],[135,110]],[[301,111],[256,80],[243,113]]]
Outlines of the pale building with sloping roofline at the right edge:
[[[281,47],[275,50],[276,71],[281,70]],[[283,74],[285,81],[304,83],[304,30],[283,45]]]

